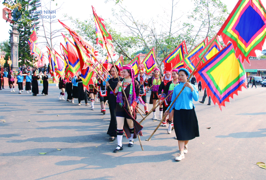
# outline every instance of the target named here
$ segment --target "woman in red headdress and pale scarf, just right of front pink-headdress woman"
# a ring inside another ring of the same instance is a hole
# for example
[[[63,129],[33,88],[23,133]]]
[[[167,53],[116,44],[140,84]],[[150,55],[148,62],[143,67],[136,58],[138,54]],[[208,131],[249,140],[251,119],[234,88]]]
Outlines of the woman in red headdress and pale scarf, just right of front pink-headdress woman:
[[[145,66],[143,64],[139,65],[138,77],[136,77],[135,80],[138,81],[140,85],[140,96],[143,102],[145,103],[144,110],[145,110],[145,114],[147,115],[149,113],[147,97],[146,97],[146,86],[148,85],[148,77],[145,74]]]

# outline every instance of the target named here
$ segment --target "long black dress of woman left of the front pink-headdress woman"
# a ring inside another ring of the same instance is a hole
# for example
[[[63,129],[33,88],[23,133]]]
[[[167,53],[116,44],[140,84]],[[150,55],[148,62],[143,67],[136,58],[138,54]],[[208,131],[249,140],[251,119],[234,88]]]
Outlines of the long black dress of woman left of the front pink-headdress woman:
[[[117,87],[118,78],[115,78],[115,79],[111,78],[108,80],[108,83],[110,84],[110,87],[113,90],[115,90],[115,88]],[[108,100],[109,110],[110,110],[110,115],[111,115],[111,120],[110,120],[107,134],[109,134],[110,136],[117,137],[117,134],[116,134],[117,121],[116,121],[116,113],[115,113],[116,96],[114,95],[114,93],[111,91],[111,89],[109,87],[107,88],[107,100]]]

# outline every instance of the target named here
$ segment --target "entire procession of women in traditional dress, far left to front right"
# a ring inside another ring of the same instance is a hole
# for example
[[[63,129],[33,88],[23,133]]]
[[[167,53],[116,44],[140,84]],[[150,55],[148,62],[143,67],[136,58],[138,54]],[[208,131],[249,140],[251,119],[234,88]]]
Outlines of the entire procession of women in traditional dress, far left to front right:
[[[114,141],[117,139],[117,147],[114,149],[114,153],[118,153],[123,150],[122,137],[123,132],[128,139],[128,147],[134,146],[134,139],[139,134],[142,136],[143,126],[136,121],[139,104],[144,106],[145,114],[149,113],[146,88],[151,91],[149,104],[153,104],[153,121],[157,121],[156,117],[156,104],[159,103],[159,119],[162,119],[163,115],[168,116],[163,121],[163,126],[167,127],[168,134],[171,134],[174,129],[176,139],[178,140],[178,146],[180,153],[176,157],[177,161],[184,159],[184,154],[188,153],[189,140],[199,137],[199,128],[197,116],[195,113],[195,106],[193,105],[193,99],[198,101],[199,95],[195,85],[188,83],[190,73],[187,69],[172,69],[172,64],[167,63],[165,66],[164,76],[161,77],[160,69],[155,68],[152,77],[148,77],[145,73],[145,67],[139,65],[139,73],[135,76],[135,71],[131,65],[123,66],[119,68],[112,66],[107,73],[103,70],[103,74],[98,74],[98,78],[93,77],[93,84],[89,85],[89,89],[83,87],[81,76],[74,76],[69,79],[59,79],[59,89],[61,89],[58,99],[65,100],[64,95],[67,93],[67,101],[74,103],[74,99],[78,99],[78,105],[81,105],[81,101],[85,101],[85,105],[90,105],[94,110],[95,99],[99,98],[101,103],[101,112],[105,114],[106,101],[108,101],[110,109],[110,125],[107,134],[110,136],[109,140]],[[23,91],[22,81],[23,77],[19,73],[18,85],[19,93]],[[110,74],[110,75],[108,75]],[[118,76],[117,76],[118,74]],[[36,72],[30,76],[26,75],[26,91],[31,90],[30,83],[32,83],[33,95],[38,94],[38,82],[40,79]],[[48,76],[44,72],[43,95],[48,94]],[[14,75],[13,72],[9,75],[10,91],[14,91]],[[11,89],[13,86],[13,89]],[[184,90],[180,93],[181,89]],[[28,93],[31,93],[28,92]],[[98,96],[98,97],[97,97]],[[177,98],[177,99],[176,99]],[[172,105],[172,106],[171,106]],[[171,107],[171,108],[170,108]]]

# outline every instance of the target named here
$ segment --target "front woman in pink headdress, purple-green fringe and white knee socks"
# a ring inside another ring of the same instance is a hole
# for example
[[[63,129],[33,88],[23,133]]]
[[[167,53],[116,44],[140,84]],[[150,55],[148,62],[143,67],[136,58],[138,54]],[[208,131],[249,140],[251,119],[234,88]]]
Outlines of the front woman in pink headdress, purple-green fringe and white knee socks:
[[[126,137],[129,139],[128,147],[133,147],[133,139],[137,138],[139,133],[142,136],[142,126],[136,121],[136,105],[143,101],[139,98],[140,87],[138,81],[134,79],[135,73],[131,65],[123,66],[122,75],[124,77],[123,81],[119,81],[117,87],[114,90],[114,95],[117,96],[117,106],[116,106],[116,119],[117,119],[117,141],[118,146],[114,150],[114,153],[118,153],[120,150],[123,150],[122,146],[122,137],[123,131],[126,134]],[[122,93],[122,88],[126,93],[126,97]],[[130,105],[130,112],[128,111],[128,105],[126,98]]]

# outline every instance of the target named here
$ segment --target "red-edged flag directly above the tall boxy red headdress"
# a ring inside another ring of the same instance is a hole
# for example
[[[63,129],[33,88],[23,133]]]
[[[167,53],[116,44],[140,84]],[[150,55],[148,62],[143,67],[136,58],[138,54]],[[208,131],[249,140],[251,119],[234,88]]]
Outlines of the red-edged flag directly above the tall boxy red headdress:
[[[185,58],[185,54],[188,54],[186,49],[186,43],[183,41],[173,52],[171,52],[167,58],[164,59],[164,66],[166,63],[172,63],[172,66],[176,66]],[[175,68],[174,68],[175,69]]]

